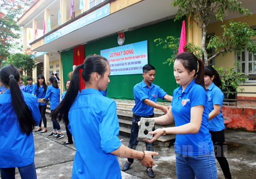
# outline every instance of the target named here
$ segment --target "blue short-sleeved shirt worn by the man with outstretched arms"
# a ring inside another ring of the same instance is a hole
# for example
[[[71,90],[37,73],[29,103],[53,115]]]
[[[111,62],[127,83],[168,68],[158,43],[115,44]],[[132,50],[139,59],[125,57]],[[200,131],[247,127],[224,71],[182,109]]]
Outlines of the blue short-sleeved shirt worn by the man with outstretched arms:
[[[149,116],[154,114],[154,108],[150,105],[145,104],[143,102],[144,99],[149,99],[156,103],[158,97],[164,100],[163,97],[167,94],[167,92],[164,92],[159,86],[153,83],[151,83],[150,88],[148,88],[144,80],[142,80],[141,83],[138,83],[134,86],[133,92],[135,100],[133,113],[139,116]]]

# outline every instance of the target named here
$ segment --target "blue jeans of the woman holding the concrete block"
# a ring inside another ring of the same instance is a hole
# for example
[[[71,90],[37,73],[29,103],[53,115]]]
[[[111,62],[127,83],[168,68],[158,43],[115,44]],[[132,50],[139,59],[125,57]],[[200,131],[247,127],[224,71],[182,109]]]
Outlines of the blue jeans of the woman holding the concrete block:
[[[217,167],[213,150],[209,154],[186,156],[176,152],[176,174],[182,179],[217,178]]]

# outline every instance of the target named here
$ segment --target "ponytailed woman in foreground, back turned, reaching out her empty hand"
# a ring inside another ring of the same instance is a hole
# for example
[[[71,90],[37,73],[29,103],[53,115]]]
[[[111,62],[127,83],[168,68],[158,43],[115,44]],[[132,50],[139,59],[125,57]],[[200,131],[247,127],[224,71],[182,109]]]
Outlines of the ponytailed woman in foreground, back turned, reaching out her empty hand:
[[[85,89],[79,93],[79,70]],[[88,56],[73,72],[68,91],[60,105],[53,110],[52,118],[68,125],[76,145],[72,178],[121,179],[117,156],[140,159],[142,165],[155,165],[151,155],[156,152],[135,151],[118,138],[117,104],[103,96],[110,76],[108,60],[102,56]]]

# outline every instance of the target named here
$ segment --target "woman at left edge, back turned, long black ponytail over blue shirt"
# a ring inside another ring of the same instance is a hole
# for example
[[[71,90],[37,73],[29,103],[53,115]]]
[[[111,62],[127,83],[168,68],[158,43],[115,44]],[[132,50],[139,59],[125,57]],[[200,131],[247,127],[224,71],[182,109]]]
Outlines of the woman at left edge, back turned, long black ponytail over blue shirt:
[[[36,97],[19,89],[19,71],[13,65],[0,70],[6,92],[0,95],[0,170],[2,179],[14,179],[18,167],[22,179],[35,179],[35,147],[32,130],[40,121]]]

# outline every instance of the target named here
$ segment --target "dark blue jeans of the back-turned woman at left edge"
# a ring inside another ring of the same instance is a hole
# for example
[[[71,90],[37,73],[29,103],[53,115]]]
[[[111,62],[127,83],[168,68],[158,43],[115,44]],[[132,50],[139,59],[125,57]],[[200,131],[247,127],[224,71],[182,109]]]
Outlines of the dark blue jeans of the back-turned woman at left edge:
[[[22,179],[36,179],[35,163],[25,167],[18,167]],[[2,179],[15,179],[15,168],[1,168]]]

